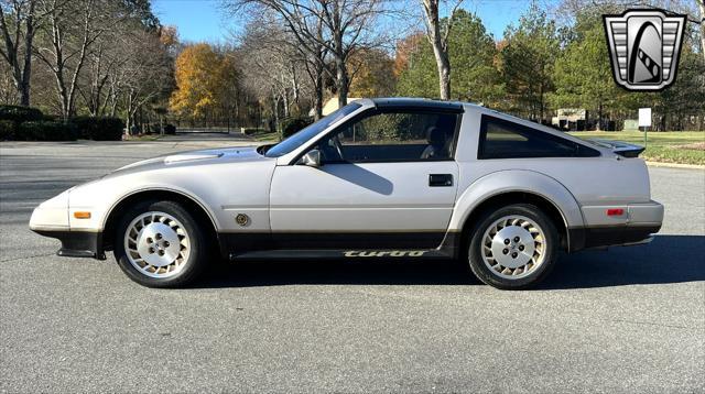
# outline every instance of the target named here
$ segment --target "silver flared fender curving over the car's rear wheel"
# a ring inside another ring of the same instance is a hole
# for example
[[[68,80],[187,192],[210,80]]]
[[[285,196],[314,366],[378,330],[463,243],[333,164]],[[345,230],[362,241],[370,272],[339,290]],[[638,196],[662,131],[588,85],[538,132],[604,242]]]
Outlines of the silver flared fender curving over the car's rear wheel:
[[[487,199],[506,193],[530,193],[551,201],[566,228],[583,227],[583,214],[575,197],[556,179],[530,169],[507,169],[487,174],[471,183],[458,197],[451,231],[462,231],[470,214]]]

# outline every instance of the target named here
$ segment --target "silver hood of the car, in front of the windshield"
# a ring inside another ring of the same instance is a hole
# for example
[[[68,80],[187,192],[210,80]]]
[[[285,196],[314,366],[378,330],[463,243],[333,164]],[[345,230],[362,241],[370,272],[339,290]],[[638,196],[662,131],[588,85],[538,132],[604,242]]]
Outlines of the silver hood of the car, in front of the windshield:
[[[128,164],[112,172],[137,172],[144,169],[156,169],[166,166],[188,165],[188,164],[212,164],[215,162],[250,162],[271,160],[257,152],[257,146],[238,146],[238,147],[223,147],[210,149],[199,151],[187,151],[173,153],[170,155],[158,156],[153,158],[143,160],[132,164]]]

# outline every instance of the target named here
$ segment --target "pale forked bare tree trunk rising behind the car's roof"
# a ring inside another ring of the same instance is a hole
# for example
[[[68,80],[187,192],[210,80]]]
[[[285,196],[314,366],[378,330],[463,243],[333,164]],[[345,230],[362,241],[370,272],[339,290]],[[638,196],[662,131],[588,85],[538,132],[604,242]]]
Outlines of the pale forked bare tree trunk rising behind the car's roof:
[[[443,0],[421,0],[425,15],[426,37],[433,46],[433,55],[438,68],[438,88],[442,100],[451,99],[451,58],[448,57],[448,36],[453,28],[455,11],[463,0],[455,0],[447,22],[443,26],[440,18],[440,2]]]

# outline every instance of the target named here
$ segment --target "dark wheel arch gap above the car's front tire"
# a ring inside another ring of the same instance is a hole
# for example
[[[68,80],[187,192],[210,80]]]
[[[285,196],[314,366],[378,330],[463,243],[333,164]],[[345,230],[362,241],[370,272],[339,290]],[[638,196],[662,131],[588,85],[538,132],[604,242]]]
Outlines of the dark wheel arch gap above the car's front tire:
[[[116,204],[113,204],[112,207],[110,207],[110,210],[108,211],[108,215],[106,215],[106,219],[102,226],[104,250],[112,249],[112,234],[116,231],[116,226],[120,220],[121,212],[123,212],[132,204],[145,200],[169,200],[181,204],[184,209],[192,214],[196,218],[196,220],[198,220],[198,222],[204,226],[204,230],[207,231],[207,236],[209,236],[209,238],[215,242],[218,242],[217,222],[215,220],[215,217],[210,211],[208,211],[203,203],[183,191],[164,188],[152,188],[138,190],[126,195]]]

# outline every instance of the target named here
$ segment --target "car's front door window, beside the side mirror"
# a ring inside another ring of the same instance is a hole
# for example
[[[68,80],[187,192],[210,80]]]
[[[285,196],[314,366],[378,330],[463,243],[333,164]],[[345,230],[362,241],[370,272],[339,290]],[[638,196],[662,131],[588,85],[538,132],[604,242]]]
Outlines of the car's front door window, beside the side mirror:
[[[452,160],[455,113],[372,112],[345,124],[318,144],[324,162]]]

